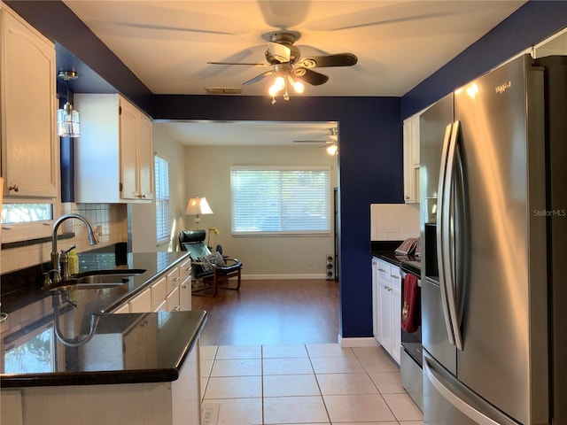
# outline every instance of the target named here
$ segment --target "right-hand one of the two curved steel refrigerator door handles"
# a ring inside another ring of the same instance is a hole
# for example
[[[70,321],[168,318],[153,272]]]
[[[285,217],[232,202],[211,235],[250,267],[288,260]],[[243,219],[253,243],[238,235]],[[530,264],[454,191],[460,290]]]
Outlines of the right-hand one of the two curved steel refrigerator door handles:
[[[461,327],[459,326],[459,315],[457,314],[456,303],[456,253],[455,253],[455,223],[454,217],[454,167],[457,152],[458,137],[461,130],[461,122],[454,121],[451,138],[449,141],[449,151],[447,152],[447,172],[445,176],[445,187],[443,188],[443,263],[445,265],[445,290],[447,291],[447,305],[451,327],[453,328],[454,345],[462,350]]]

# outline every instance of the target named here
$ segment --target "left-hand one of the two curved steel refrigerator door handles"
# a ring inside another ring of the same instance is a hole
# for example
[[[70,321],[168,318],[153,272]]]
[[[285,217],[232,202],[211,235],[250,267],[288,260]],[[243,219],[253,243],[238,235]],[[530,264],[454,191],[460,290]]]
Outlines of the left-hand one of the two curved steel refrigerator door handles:
[[[447,274],[446,274],[446,263],[447,258],[445,256],[445,239],[446,232],[448,231],[448,213],[446,206],[447,199],[445,198],[445,187],[447,185],[447,156],[449,152],[449,146],[451,141],[451,134],[453,132],[453,124],[449,124],[445,129],[445,136],[443,138],[443,151],[441,152],[441,166],[439,169],[439,186],[437,190],[437,205],[438,205],[438,225],[437,225],[437,262],[439,269],[439,287],[441,292],[441,306],[443,308],[443,319],[445,321],[445,327],[447,328],[447,338],[449,344],[455,344],[454,341],[454,328],[453,321],[451,320],[451,313],[449,310],[449,302],[447,298]]]

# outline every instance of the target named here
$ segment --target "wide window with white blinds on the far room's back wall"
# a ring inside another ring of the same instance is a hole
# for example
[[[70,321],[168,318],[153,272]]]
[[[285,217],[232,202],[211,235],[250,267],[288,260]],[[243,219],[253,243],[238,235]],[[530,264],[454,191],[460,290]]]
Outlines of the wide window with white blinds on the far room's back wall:
[[[232,167],[234,235],[330,233],[330,167]]]

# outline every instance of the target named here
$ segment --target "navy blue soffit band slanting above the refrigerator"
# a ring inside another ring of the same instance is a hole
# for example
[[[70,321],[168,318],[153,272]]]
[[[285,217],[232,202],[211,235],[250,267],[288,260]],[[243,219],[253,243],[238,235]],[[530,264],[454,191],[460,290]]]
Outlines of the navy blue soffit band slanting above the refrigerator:
[[[531,1],[402,98],[408,118],[521,51],[567,27],[567,2]]]

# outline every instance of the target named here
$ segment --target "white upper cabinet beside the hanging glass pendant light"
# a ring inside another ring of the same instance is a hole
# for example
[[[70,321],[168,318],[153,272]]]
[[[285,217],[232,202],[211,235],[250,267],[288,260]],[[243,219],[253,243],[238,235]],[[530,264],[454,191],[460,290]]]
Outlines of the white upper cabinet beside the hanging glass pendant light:
[[[81,137],[75,144],[75,202],[153,198],[151,120],[119,95],[75,94]]]

